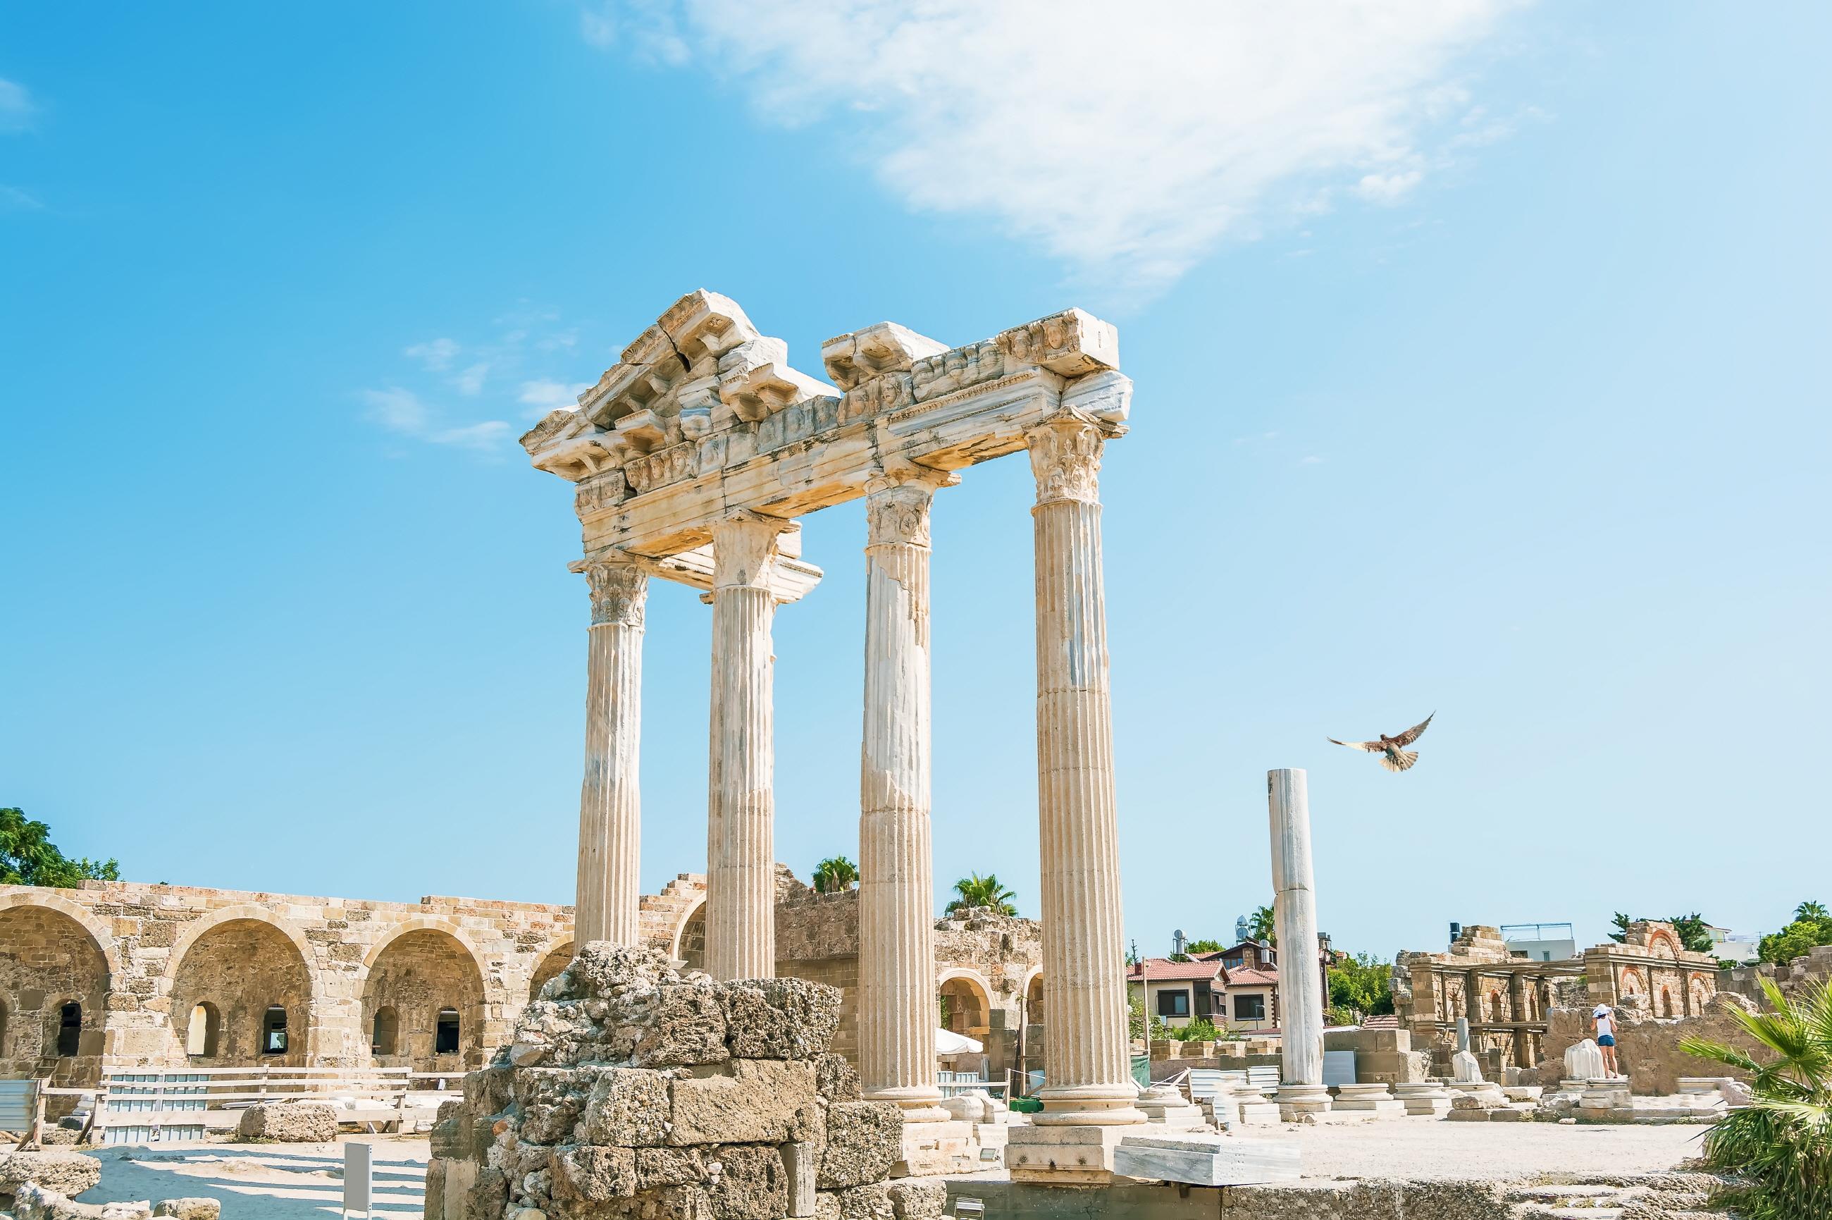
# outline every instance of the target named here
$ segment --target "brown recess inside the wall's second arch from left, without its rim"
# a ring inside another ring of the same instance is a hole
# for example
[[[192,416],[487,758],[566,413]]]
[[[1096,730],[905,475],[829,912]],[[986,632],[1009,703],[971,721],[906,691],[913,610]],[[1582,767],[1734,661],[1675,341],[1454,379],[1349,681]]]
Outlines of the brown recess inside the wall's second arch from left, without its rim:
[[[200,1009],[203,1037],[192,1040]],[[227,920],[185,949],[172,975],[170,1011],[174,1057],[209,1068],[299,1068],[311,1029],[311,971],[293,938],[273,923]]]

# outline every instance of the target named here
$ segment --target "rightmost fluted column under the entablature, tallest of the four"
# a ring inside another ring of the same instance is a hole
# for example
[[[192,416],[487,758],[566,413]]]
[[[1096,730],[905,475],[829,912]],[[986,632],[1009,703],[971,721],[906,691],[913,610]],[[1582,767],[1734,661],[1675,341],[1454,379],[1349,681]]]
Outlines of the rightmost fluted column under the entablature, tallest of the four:
[[[1028,434],[1037,507],[1037,822],[1042,852],[1041,1125],[1143,1123],[1132,1101],[1114,813],[1101,432],[1064,410]]]

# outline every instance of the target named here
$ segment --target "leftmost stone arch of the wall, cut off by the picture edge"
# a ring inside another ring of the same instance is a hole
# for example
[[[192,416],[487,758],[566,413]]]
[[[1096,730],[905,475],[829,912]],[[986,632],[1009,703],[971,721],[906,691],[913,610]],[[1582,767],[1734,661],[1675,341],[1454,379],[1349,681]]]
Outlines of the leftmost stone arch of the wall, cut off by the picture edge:
[[[60,1088],[101,1079],[117,975],[110,940],[97,932],[93,916],[68,899],[0,903],[0,1075],[51,1077]],[[59,1103],[68,1110],[55,1099],[53,1114]]]

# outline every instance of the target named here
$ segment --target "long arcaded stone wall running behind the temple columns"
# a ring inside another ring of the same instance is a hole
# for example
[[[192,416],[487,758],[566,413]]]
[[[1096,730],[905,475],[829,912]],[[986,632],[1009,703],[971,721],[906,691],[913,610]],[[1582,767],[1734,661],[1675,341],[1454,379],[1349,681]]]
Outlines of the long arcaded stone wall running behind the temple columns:
[[[703,903],[698,874],[645,896],[645,943],[698,965]],[[967,1033],[987,1044],[993,1072],[1017,1066],[1020,998],[1041,962],[1037,923],[980,914],[936,929],[938,987],[984,997],[984,1024]],[[815,894],[779,866],[777,943],[780,975],[841,989],[834,1050],[856,1059],[857,890]],[[489,1059],[570,960],[572,907],[546,903],[383,903],[128,881],[75,890],[0,885],[0,1075],[92,1084],[104,1066],[258,1064],[456,1075]],[[66,1006],[75,1006],[77,1024],[60,1048]],[[275,1008],[284,1011],[286,1050],[262,1053]],[[392,1046],[376,1051],[383,1009]],[[445,1011],[456,1013],[458,1050],[438,1053]]]

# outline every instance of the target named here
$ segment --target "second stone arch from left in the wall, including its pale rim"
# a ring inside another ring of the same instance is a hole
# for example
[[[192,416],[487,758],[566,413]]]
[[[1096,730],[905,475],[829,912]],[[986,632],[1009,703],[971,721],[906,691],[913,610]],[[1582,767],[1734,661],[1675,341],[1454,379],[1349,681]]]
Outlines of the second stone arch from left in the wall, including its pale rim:
[[[311,947],[299,929],[260,907],[227,907],[185,929],[167,978],[172,1061],[213,1068],[306,1064],[322,995]],[[189,1017],[200,1004],[218,1013],[213,1055],[187,1055]],[[284,1011],[278,1022],[269,1015],[275,1008]]]

